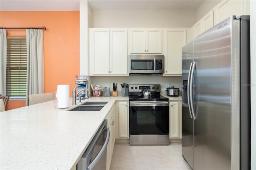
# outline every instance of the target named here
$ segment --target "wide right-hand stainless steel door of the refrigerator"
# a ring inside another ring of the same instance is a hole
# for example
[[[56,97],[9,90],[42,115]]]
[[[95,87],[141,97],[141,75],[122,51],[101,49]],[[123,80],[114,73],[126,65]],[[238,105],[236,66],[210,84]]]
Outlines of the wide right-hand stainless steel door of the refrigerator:
[[[230,23],[228,18],[194,39],[196,170],[231,169]]]

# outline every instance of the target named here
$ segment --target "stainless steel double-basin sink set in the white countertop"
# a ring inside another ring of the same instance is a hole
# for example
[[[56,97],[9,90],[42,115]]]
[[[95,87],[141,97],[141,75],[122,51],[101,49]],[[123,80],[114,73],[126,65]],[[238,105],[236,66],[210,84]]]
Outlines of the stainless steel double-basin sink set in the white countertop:
[[[69,111],[100,111],[108,102],[86,102]]]

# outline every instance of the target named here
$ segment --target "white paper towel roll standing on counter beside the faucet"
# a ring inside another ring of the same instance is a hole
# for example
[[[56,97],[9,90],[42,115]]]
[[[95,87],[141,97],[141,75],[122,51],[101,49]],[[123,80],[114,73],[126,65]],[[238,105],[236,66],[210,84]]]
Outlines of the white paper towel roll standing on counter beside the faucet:
[[[58,108],[69,107],[69,85],[58,85],[56,98],[58,99]]]

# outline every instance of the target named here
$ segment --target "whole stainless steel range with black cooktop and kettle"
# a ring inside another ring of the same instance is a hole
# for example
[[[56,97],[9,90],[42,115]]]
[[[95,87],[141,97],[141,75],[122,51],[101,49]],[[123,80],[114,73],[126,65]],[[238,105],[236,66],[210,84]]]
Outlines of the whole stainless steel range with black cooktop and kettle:
[[[129,85],[131,145],[169,144],[169,103],[160,85]]]

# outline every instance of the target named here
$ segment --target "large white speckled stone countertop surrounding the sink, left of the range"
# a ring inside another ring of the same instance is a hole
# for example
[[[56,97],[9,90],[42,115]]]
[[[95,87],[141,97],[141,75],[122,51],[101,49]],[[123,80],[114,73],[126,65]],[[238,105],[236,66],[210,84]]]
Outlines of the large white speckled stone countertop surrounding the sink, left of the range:
[[[90,97],[108,101],[101,111],[54,109],[48,101],[0,113],[0,169],[73,169],[115,101],[128,97]],[[77,101],[78,102],[78,101]],[[72,98],[70,98],[70,108]]]

